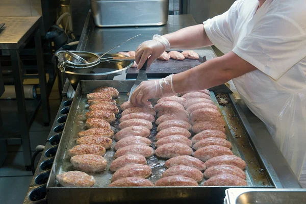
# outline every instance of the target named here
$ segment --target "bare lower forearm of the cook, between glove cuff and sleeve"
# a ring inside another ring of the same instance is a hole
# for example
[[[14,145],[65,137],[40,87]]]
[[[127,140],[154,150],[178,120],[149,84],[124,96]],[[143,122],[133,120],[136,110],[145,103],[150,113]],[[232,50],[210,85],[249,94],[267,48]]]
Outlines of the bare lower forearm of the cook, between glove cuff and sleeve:
[[[176,93],[208,89],[256,69],[234,52],[230,52],[188,71],[174,74],[172,83]]]

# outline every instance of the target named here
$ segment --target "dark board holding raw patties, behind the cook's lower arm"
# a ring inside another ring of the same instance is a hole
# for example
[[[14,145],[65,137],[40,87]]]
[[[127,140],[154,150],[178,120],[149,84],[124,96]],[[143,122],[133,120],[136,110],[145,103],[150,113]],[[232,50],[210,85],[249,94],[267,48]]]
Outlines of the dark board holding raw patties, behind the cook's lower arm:
[[[179,51],[180,52],[180,51]],[[206,57],[199,57],[198,60],[190,60],[185,59],[182,61],[172,60],[169,61],[161,61],[156,60],[151,64],[150,67],[147,68],[146,74],[148,78],[164,78],[172,73],[180,73],[191,69],[197,65],[206,62]],[[126,79],[136,79],[138,74],[138,69],[129,68],[127,69]]]

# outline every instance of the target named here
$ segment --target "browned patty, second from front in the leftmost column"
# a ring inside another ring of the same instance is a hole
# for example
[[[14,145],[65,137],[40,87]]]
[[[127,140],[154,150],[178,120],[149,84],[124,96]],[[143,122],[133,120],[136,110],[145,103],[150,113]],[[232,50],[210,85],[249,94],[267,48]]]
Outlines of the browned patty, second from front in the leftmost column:
[[[74,169],[84,172],[98,172],[106,169],[107,161],[99,155],[76,155],[70,163]]]

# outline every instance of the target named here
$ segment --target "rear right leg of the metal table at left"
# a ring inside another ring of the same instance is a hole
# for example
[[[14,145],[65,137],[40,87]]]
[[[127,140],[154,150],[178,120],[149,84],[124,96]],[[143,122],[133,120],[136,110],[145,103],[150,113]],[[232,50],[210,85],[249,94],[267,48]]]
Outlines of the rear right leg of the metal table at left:
[[[49,107],[49,100],[47,96],[46,74],[45,74],[45,70],[43,67],[43,54],[42,54],[42,48],[41,48],[39,29],[37,29],[37,31],[35,32],[35,48],[36,48],[37,69],[38,69],[38,75],[39,75],[42,118],[43,118],[43,124],[45,126],[48,126],[50,122],[50,107]]]

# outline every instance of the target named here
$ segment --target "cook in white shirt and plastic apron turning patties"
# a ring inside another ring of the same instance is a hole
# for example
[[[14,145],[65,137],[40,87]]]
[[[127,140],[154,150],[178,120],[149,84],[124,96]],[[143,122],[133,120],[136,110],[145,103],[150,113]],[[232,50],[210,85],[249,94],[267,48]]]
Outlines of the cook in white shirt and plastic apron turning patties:
[[[306,156],[305,11],[305,0],[238,0],[203,24],[155,35],[138,46],[138,68],[149,56],[148,65],[170,48],[215,45],[224,56],[164,79],[142,82],[131,102],[147,105],[150,98],[232,80],[299,178]]]

